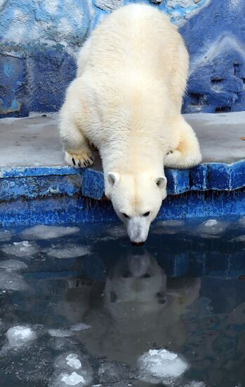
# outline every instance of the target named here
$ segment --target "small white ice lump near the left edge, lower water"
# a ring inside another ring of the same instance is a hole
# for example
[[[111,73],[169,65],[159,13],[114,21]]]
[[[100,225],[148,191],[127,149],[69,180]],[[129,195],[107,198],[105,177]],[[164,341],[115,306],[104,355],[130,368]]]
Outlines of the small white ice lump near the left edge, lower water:
[[[37,334],[29,326],[17,325],[6,332],[11,347],[20,347],[37,338]]]

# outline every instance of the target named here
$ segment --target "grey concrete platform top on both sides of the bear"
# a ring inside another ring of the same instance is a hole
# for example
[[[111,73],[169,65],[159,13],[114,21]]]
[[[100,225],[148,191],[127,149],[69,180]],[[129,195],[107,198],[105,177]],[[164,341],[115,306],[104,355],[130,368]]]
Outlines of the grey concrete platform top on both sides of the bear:
[[[0,167],[64,165],[57,118],[57,113],[46,113],[0,120]],[[197,113],[185,119],[197,133],[204,163],[245,159],[245,112]]]

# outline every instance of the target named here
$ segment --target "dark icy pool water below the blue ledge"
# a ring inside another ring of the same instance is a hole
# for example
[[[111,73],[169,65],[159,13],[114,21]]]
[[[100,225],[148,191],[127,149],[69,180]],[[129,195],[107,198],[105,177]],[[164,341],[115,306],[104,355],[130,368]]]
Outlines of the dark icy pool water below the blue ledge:
[[[245,386],[245,218],[201,222],[0,229],[0,386]]]

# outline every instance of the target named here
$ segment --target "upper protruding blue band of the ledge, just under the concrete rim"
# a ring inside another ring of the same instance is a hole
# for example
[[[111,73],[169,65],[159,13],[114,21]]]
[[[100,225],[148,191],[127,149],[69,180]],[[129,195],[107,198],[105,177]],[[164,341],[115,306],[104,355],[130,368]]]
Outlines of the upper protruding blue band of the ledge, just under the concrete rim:
[[[233,164],[206,163],[190,170],[166,169],[165,173],[169,195],[187,191],[234,191],[245,186],[245,160]],[[104,194],[102,172],[65,166],[0,168],[0,201],[48,193],[70,196],[80,189],[86,198],[100,200]]]

